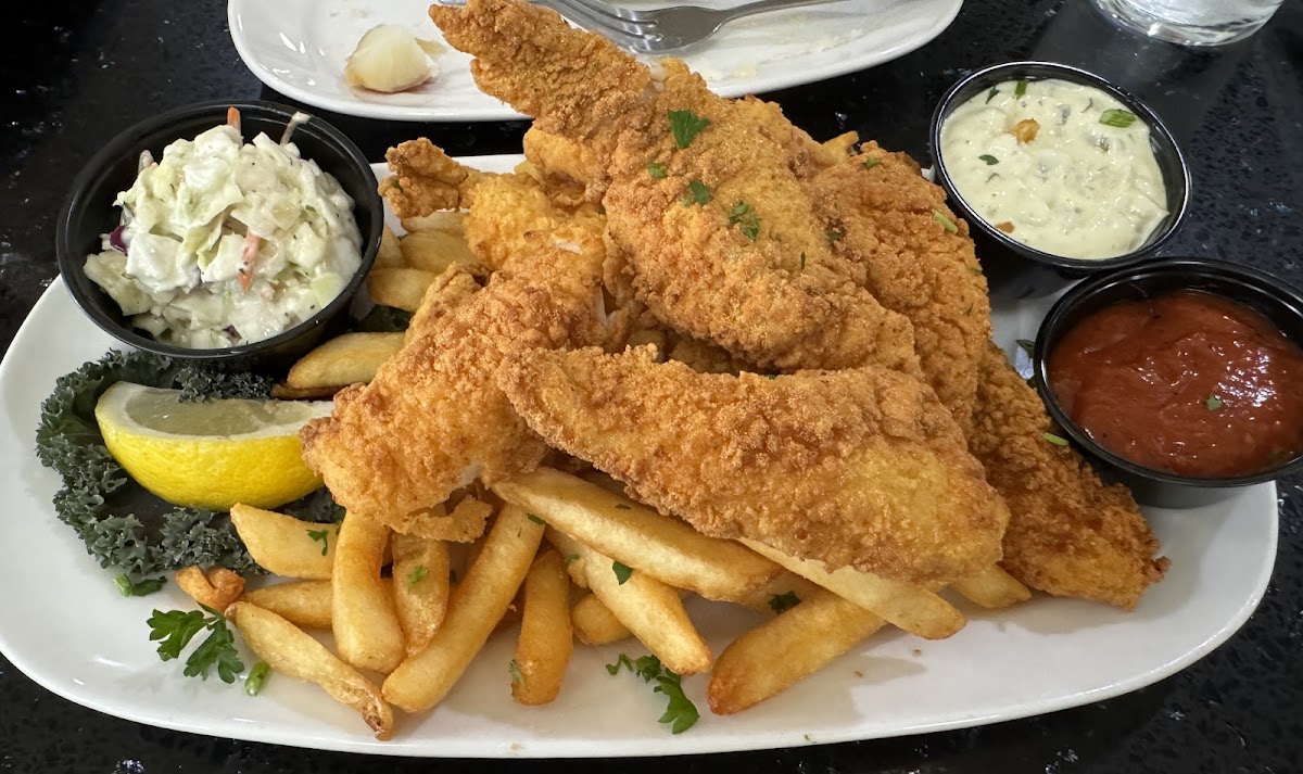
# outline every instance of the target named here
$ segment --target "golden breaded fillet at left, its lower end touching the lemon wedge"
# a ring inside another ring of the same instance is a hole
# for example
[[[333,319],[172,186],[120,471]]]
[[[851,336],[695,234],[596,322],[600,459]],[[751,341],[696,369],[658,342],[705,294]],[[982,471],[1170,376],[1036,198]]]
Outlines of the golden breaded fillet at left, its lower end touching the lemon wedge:
[[[437,536],[434,507],[453,490],[530,470],[547,453],[493,374],[515,351],[601,344],[609,332],[599,251],[537,241],[483,289],[457,270],[440,275],[403,349],[304,427],[304,459],[351,513]]]

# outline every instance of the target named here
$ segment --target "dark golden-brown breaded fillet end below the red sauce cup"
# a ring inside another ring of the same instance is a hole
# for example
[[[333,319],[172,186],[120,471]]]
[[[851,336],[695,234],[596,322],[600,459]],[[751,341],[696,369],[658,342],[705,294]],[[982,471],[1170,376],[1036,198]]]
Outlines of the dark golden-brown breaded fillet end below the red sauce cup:
[[[1045,407],[990,344],[977,387],[973,455],[1009,503],[1001,564],[1024,584],[1061,597],[1135,607],[1167,559],[1124,486],[1105,486],[1070,447],[1045,439]]]

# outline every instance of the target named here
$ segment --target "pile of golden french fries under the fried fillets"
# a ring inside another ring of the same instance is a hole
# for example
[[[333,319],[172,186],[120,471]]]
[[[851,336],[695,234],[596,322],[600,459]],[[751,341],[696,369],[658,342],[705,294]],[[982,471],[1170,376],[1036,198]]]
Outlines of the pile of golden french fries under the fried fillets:
[[[373,300],[414,310],[440,271],[473,263],[460,218],[404,220],[401,241],[386,229],[369,281]],[[318,397],[367,382],[401,343],[403,334],[327,341],[293,366],[281,396]],[[356,516],[321,525],[236,506],[231,519],[249,554],[285,580],[246,590],[229,571],[193,567],[176,580],[224,610],[272,670],[317,683],[357,710],[377,739],[392,736],[394,708],[418,713],[443,701],[489,638],[507,636],[517,622],[515,659],[502,675],[519,704],[556,698],[575,640],[636,638],[667,670],[709,672],[715,714],[778,695],[883,625],[941,638],[964,624],[939,588],[852,568],[829,572],[762,543],[706,537],[620,491],[597,472],[541,468],[460,493],[444,506],[452,509],[440,539]],[[1029,597],[994,566],[952,588],[988,609]],[[684,607],[688,594],[767,619],[715,654]],[[308,629],[330,629],[334,650]]]

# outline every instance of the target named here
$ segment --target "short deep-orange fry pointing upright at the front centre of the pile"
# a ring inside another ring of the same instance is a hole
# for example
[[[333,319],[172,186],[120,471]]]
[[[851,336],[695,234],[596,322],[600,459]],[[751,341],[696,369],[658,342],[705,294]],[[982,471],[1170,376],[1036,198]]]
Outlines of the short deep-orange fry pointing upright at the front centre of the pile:
[[[569,579],[562,555],[546,550],[525,576],[516,668],[511,672],[511,696],[516,704],[537,706],[556,698],[573,648]]]

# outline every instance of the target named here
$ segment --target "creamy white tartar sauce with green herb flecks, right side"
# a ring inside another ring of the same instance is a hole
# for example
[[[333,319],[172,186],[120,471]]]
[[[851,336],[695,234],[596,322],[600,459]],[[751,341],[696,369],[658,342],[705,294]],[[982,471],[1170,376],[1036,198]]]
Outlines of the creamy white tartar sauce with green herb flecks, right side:
[[[994,86],[950,113],[941,154],[973,211],[1053,255],[1123,255],[1167,215],[1149,126],[1091,86],[1059,79]]]

